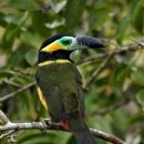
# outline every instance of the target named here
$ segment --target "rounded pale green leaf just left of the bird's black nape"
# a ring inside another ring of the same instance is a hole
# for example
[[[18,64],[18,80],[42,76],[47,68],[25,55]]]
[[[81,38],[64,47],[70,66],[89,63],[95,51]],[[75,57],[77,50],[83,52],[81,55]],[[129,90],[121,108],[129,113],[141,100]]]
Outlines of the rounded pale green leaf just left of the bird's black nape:
[[[38,61],[38,50],[31,49],[30,51],[28,51],[25,54],[25,60],[30,65],[34,65]]]

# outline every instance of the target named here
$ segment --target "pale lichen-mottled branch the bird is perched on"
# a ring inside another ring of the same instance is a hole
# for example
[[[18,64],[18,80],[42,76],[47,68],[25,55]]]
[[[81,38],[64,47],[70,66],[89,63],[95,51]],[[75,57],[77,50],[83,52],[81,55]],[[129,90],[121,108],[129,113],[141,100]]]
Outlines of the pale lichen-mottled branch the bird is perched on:
[[[11,135],[14,132],[21,131],[21,130],[40,130],[40,131],[55,130],[55,131],[68,132],[60,124],[51,123],[50,121],[47,121],[47,122],[44,122],[44,121],[43,122],[29,122],[29,123],[12,123],[10,121],[6,121],[6,117],[7,116],[4,115],[4,113],[2,111],[0,111],[1,121],[4,121],[4,123],[7,122],[4,125],[0,126],[0,132],[3,133],[3,132],[8,131],[8,133],[1,134],[0,138],[3,138],[6,136]],[[9,120],[9,119],[7,117],[7,120]],[[110,134],[106,134],[104,132],[101,132],[101,131],[97,131],[97,130],[94,130],[94,128],[91,128],[91,132],[95,137],[105,140],[105,141],[111,142],[113,144],[125,144],[122,140],[117,138],[114,135],[110,135]],[[13,140],[13,137],[12,137],[12,140]]]

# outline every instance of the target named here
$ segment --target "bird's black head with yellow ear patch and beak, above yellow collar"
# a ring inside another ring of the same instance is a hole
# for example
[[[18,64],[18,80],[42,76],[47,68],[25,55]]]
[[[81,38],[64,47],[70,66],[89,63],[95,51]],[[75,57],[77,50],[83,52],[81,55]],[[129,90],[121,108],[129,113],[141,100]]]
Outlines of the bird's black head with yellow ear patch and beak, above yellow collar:
[[[42,43],[39,51],[39,62],[58,59],[71,60],[70,54],[74,50],[96,49],[102,47],[104,47],[104,43],[95,38],[58,34],[49,38]]]

